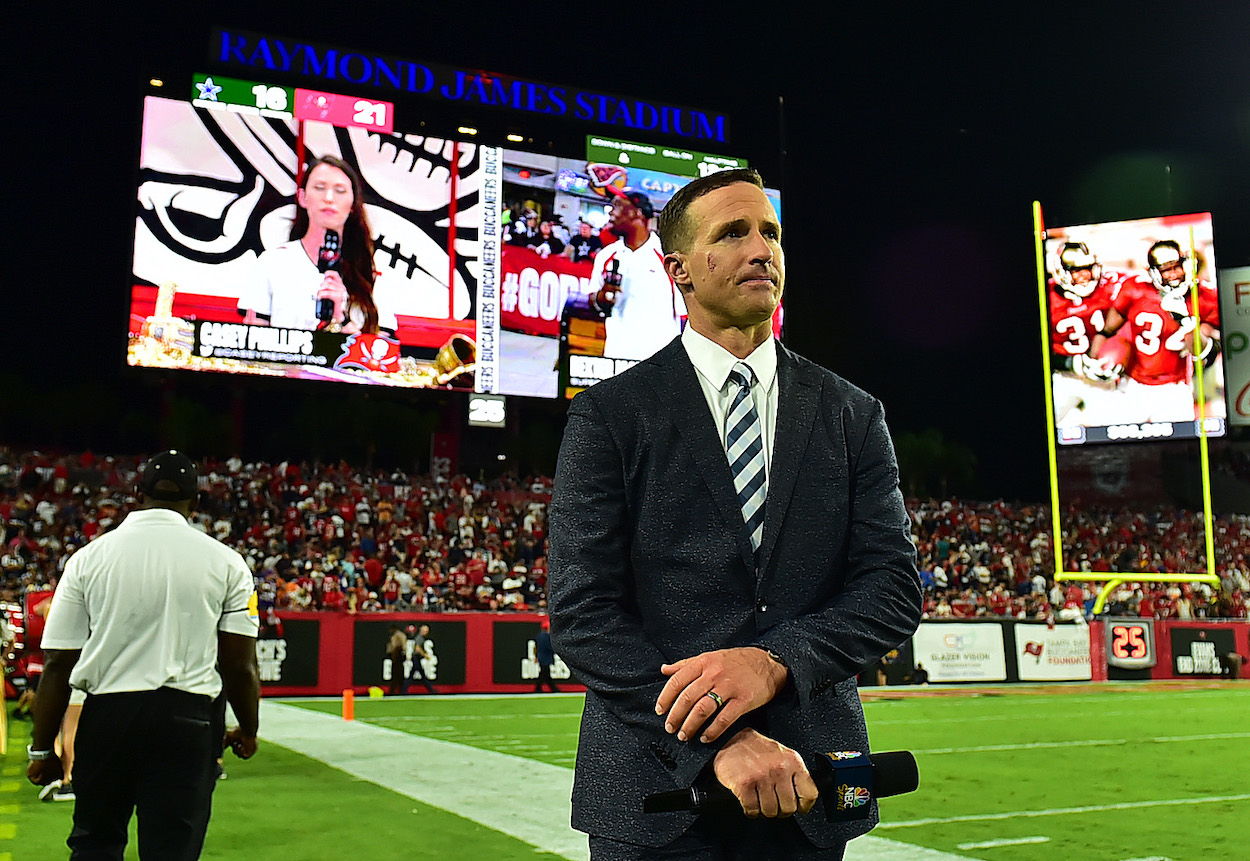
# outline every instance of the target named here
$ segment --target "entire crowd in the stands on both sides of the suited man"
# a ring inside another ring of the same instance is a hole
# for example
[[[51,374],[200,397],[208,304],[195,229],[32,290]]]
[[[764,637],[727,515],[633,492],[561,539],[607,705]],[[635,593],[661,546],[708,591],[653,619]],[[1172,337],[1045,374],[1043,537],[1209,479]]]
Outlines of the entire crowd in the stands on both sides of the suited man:
[[[139,459],[50,456],[0,447],[0,587],[4,600],[55,586],[65,560],[109,530],[130,501]],[[510,611],[546,606],[550,479],[362,471],[348,464],[201,465],[194,524],[251,565],[270,611]],[[1005,501],[909,500],[929,619],[1085,619],[1108,580],[1112,615],[1245,619],[1250,517],[1215,520],[1219,590],[1150,582],[1150,572],[1201,571],[1201,519],[1071,510],[1068,566],[1089,582],[1052,579],[1049,507]]]

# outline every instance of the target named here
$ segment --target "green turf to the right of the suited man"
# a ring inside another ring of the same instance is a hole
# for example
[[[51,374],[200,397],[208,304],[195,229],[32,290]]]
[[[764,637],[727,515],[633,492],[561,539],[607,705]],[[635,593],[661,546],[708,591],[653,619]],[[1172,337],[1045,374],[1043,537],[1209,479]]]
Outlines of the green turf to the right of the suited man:
[[[915,751],[921,775],[918,792],[881,802],[880,836],[994,861],[1248,857],[1250,799],[1192,800],[1250,792],[1250,687],[1051,686],[865,712],[874,749]],[[1001,819],[898,827],[974,816]],[[1025,839],[1039,842],[960,849]]]

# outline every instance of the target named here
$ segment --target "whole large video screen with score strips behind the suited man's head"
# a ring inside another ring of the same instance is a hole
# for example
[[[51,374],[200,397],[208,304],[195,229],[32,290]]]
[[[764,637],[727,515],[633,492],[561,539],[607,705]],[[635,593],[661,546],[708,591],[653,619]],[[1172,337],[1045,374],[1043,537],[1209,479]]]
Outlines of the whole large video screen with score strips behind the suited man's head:
[[[654,229],[691,177],[638,162],[690,154],[536,155],[420,125],[221,76],[148,96],[129,364],[559,397],[680,332]],[[720,169],[698,155],[690,172]]]

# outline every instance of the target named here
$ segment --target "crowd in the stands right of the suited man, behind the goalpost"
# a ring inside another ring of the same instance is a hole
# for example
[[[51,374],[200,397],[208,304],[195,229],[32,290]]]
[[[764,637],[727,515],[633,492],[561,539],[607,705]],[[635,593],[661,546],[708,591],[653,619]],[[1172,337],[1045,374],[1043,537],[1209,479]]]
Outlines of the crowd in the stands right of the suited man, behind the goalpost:
[[[926,619],[1010,616],[1089,619],[1099,592],[1112,616],[1245,619],[1250,595],[1250,517],[1212,520],[1220,589],[1151,582],[1151,572],[1206,570],[1201,517],[1181,509],[1149,514],[1071,506],[1061,520],[1065,570],[1088,581],[1056,582],[1050,507],[959,500],[909,500]]]

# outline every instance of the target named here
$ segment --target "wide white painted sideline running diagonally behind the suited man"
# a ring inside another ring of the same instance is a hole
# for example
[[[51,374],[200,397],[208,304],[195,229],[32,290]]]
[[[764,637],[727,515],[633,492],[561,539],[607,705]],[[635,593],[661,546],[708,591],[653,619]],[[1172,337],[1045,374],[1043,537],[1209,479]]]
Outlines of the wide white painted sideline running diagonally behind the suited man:
[[[480,822],[570,861],[588,861],[569,826],[572,769],[261,701],[261,739],[392,792]],[[264,756],[264,752],[261,752]],[[885,837],[851,841],[846,861],[962,861]]]

